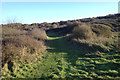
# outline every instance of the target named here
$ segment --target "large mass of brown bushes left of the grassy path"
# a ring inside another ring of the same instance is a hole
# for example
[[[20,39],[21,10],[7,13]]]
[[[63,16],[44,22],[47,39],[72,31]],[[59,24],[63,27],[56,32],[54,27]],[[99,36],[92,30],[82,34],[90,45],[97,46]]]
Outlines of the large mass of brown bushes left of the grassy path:
[[[27,35],[30,33],[31,35]],[[9,61],[35,62],[38,57],[42,57],[46,47],[44,40],[46,33],[43,30],[33,29],[26,32],[24,30],[3,28],[2,40],[2,64]],[[35,39],[40,38],[41,40]],[[38,56],[39,55],[39,56]]]

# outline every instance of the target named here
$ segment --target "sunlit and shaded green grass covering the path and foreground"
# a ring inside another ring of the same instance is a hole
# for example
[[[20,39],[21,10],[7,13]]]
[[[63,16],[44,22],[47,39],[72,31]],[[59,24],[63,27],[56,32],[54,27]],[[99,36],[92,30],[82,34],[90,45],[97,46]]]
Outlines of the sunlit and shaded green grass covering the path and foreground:
[[[14,72],[4,71],[5,78],[88,78],[120,79],[118,52],[90,52],[87,45],[73,46],[64,36],[48,33],[47,51],[33,64],[17,64]]]

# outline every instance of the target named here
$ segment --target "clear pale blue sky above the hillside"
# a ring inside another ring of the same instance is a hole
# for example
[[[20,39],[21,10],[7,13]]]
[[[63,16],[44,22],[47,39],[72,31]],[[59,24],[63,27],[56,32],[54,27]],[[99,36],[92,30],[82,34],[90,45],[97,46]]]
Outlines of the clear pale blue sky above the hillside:
[[[59,22],[118,13],[118,2],[2,2],[2,24]]]

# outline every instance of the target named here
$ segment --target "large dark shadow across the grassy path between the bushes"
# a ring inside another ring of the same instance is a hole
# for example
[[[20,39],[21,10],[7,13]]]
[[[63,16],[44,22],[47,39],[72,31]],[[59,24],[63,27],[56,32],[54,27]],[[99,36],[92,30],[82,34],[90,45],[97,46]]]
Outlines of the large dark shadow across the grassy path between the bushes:
[[[57,34],[50,33],[48,36],[59,37]],[[74,43],[74,44],[73,44]],[[61,54],[72,65],[76,64],[78,58],[89,57],[88,53],[94,53],[96,51],[103,51],[100,46],[89,46],[85,43],[69,42],[66,37],[59,37],[57,39],[50,39],[47,41],[47,49],[50,53]],[[99,57],[99,56],[94,56]]]

